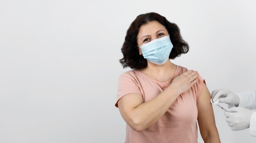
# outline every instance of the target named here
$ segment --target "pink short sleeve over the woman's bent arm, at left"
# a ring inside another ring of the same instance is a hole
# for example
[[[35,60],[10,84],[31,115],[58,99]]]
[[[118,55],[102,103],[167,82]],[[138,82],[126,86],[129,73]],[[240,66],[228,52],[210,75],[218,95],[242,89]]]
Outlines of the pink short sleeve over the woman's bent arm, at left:
[[[124,95],[130,93],[137,93],[141,95],[139,84],[135,77],[132,77],[128,74],[122,74],[118,79],[117,100],[115,106],[118,107],[118,100],[121,99]]]

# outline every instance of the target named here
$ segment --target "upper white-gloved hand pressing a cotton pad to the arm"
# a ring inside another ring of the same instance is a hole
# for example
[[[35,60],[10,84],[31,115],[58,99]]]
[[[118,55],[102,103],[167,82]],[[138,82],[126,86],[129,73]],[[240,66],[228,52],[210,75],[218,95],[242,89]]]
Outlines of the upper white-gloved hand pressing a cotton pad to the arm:
[[[219,103],[227,103],[230,105],[238,105],[239,97],[229,89],[216,89],[212,91],[211,98],[213,102],[219,100]]]

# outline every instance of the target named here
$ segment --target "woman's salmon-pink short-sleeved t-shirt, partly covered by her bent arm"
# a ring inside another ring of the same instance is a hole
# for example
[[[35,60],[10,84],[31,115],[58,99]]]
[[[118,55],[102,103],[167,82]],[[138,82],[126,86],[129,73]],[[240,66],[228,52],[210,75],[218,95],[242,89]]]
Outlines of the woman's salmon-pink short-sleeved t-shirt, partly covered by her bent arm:
[[[137,69],[125,72],[118,80],[117,102],[129,93],[137,93],[147,102],[166,89],[176,76],[187,70],[177,65],[175,74],[166,82],[154,80]],[[197,143],[197,102],[203,82],[205,81],[199,76],[199,81],[178,96],[166,113],[149,128],[137,132],[127,124],[125,143]]]

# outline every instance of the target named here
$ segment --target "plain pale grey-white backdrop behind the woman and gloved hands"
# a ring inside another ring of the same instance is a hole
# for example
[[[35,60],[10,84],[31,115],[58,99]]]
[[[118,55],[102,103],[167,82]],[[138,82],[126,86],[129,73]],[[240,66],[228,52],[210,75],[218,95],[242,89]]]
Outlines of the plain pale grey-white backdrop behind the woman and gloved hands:
[[[114,106],[126,30],[157,12],[190,45],[173,63],[209,91],[256,88],[254,0],[0,0],[0,142],[123,143]],[[225,108],[227,105],[221,104]],[[255,143],[213,105],[222,143]],[[202,143],[200,134],[198,141]]]

